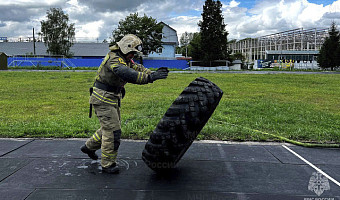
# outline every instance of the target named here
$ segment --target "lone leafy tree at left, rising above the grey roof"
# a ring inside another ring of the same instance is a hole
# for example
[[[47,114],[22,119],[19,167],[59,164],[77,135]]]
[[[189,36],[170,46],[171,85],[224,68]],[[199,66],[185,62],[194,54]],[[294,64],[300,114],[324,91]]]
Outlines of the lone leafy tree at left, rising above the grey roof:
[[[68,15],[61,8],[50,8],[46,12],[47,20],[41,21],[39,33],[47,46],[47,53],[71,57],[70,48],[75,39],[74,23],[68,24]]]

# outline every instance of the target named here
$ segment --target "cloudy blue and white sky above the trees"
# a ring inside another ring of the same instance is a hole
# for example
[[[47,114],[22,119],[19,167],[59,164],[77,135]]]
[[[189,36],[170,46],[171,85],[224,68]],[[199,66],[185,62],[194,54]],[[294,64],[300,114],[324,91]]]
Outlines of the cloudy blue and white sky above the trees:
[[[144,13],[177,30],[198,32],[205,0],[0,0],[0,37],[31,37],[51,7],[75,23],[77,40],[99,42],[111,36],[130,13]],[[340,0],[222,0],[229,39],[243,39],[295,28],[340,27]]]

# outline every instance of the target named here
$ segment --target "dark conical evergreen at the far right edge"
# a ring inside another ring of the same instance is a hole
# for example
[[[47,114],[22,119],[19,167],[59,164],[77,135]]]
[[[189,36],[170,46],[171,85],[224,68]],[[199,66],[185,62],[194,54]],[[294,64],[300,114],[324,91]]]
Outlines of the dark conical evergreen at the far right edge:
[[[318,63],[321,68],[331,68],[332,71],[340,66],[340,34],[335,22],[332,22],[329,37],[321,46]]]

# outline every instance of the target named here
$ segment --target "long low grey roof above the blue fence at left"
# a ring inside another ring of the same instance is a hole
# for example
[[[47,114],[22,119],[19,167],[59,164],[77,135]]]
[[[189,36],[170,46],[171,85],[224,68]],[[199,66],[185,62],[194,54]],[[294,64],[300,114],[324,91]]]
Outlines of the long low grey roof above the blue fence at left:
[[[40,56],[49,55],[43,42],[35,43],[35,54]],[[70,49],[74,56],[105,56],[109,52],[107,43],[74,43]],[[33,42],[0,42],[0,52],[8,56],[33,54]]]

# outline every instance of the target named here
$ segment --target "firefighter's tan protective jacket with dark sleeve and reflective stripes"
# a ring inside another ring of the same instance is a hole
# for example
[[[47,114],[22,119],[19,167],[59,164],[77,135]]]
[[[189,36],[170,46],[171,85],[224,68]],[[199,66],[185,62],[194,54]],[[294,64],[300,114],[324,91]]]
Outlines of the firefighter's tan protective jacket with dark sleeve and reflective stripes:
[[[150,83],[151,70],[132,60],[126,60],[117,45],[110,47],[110,52],[105,56],[99,66],[90,104],[102,102],[116,105],[126,83]]]

